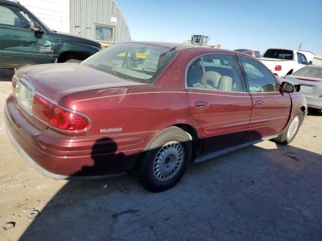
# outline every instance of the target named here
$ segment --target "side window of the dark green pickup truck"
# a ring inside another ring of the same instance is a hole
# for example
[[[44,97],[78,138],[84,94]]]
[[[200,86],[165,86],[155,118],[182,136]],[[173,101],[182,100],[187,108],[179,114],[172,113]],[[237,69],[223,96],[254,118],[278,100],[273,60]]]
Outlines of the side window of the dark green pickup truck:
[[[31,19],[16,6],[0,4],[0,25],[29,29]]]

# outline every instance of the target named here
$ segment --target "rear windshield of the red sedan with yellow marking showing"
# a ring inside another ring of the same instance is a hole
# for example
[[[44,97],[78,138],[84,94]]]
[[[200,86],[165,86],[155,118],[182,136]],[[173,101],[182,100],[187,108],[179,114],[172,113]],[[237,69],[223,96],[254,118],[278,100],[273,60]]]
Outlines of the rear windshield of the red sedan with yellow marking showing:
[[[121,43],[88,58],[82,65],[140,83],[153,83],[176,56],[174,49],[141,43]]]

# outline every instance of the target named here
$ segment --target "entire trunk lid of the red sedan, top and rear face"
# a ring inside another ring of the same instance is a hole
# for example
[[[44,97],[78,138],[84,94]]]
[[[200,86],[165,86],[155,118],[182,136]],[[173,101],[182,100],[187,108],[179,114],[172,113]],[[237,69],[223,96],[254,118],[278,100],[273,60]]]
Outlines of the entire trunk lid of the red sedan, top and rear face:
[[[144,85],[78,64],[46,64],[20,68],[14,79],[16,83],[13,84],[13,90],[18,109],[39,130],[48,128],[48,125],[41,123],[39,116],[34,116],[37,106],[44,107],[49,102],[56,105],[64,96],[77,92]],[[34,106],[35,103],[38,105]],[[50,112],[49,107],[46,111]]]

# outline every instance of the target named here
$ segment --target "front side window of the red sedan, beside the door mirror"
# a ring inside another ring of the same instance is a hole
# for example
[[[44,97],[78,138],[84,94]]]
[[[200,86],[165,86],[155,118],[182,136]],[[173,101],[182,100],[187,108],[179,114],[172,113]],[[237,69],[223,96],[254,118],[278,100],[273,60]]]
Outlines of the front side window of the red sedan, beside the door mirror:
[[[276,82],[273,74],[263,64],[244,56],[238,56],[243,64],[250,92],[276,92]]]

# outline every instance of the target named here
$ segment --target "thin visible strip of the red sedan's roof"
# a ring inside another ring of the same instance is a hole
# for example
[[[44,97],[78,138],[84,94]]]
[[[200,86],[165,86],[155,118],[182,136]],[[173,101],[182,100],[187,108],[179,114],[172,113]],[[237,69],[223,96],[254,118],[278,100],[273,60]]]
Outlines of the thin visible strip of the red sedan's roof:
[[[184,43],[171,43],[171,42],[154,42],[154,41],[132,41],[130,43],[139,43],[139,44],[151,44],[151,45],[157,45],[157,46],[162,46],[166,48],[175,48],[177,51],[182,51],[182,50],[188,50],[188,49],[199,49],[205,50],[205,52],[209,52],[209,50],[213,50],[212,52],[215,53],[230,53],[230,54],[238,54],[238,55],[244,55],[247,57],[250,57],[247,54],[241,53],[241,52],[234,52],[230,50],[225,50],[225,49],[216,49],[216,48],[210,48],[210,47],[204,47],[200,45],[193,45],[193,44],[184,44]]]

